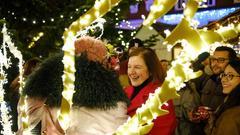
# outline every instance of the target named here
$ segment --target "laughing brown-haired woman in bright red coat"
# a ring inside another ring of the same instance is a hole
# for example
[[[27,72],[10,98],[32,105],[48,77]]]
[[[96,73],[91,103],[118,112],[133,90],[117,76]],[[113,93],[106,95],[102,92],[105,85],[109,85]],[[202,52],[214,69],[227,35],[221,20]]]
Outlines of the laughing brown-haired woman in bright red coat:
[[[165,74],[155,52],[150,48],[136,48],[129,54],[128,77],[131,86],[125,89],[131,99],[128,115],[133,116],[138,107],[146,102],[150,93],[162,85]],[[172,100],[161,109],[169,111],[154,121],[149,135],[172,135],[176,127],[176,118]]]

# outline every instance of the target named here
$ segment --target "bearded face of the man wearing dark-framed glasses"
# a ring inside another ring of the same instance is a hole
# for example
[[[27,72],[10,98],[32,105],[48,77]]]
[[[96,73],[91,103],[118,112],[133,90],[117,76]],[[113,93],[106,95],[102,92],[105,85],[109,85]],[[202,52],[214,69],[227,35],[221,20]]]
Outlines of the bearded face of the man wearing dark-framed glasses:
[[[224,71],[225,67],[229,62],[227,51],[215,51],[213,56],[210,58],[211,69],[213,74],[220,74]]]

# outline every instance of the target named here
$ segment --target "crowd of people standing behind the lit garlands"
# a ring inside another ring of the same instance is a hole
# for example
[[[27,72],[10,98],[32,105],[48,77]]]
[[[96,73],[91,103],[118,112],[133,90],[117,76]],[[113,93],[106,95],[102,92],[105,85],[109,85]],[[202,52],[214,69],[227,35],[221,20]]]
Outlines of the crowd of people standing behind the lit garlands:
[[[114,63],[120,68],[112,68],[116,65],[111,63],[100,39],[81,37],[75,48],[75,93],[71,122],[65,132],[57,120],[63,89],[63,53],[34,64],[31,74],[26,74],[23,96],[34,134],[113,134],[136,114],[150,93],[161,87],[171,66],[139,39],[130,42],[124,60]],[[213,55],[200,54],[191,68],[203,74],[185,82],[186,86],[178,91],[180,98],[162,106],[168,114],[153,120],[148,135],[240,135],[240,60],[236,52],[219,46]],[[17,91],[16,80],[13,84]],[[21,135],[24,128],[19,107],[16,133]]]

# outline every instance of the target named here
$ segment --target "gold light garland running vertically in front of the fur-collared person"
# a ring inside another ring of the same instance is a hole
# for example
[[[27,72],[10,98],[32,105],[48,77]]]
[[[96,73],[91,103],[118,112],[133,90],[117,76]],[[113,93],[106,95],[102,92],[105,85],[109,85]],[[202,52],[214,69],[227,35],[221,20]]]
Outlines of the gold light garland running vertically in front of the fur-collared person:
[[[94,20],[103,16],[105,13],[111,10],[112,7],[118,5],[121,0],[96,0],[93,8],[88,10],[79,19],[74,21],[63,34],[64,39],[64,75],[63,79],[63,92],[61,108],[58,115],[58,120],[63,128],[66,130],[69,127],[69,112],[72,105],[72,96],[74,93],[74,81],[75,81],[75,48],[74,41],[76,39],[77,32],[89,26]]]

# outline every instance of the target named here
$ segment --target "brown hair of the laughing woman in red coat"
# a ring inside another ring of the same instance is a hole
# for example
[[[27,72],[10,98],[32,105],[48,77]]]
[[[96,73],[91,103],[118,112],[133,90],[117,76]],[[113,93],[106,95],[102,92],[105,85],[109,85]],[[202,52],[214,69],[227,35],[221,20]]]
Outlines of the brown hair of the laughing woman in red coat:
[[[136,48],[130,54],[129,58],[132,56],[141,56],[144,62],[147,65],[148,71],[152,76],[152,81],[160,81],[161,83],[164,81],[165,74],[163,72],[162,65],[154,52],[151,48]]]

